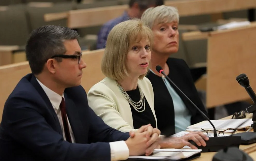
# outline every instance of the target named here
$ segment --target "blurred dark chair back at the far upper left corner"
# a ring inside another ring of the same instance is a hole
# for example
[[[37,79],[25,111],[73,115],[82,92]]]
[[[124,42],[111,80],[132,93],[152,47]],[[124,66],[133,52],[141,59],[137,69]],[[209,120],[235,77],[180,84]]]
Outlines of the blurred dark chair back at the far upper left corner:
[[[24,5],[0,8],[0,45],[25,45],[29,37]]]

